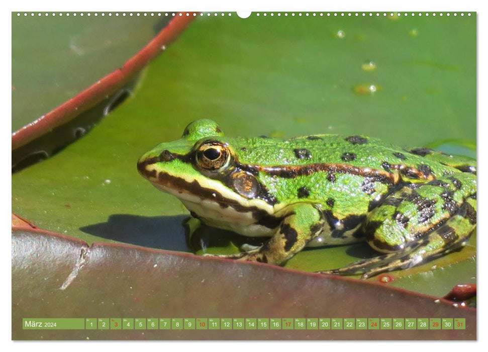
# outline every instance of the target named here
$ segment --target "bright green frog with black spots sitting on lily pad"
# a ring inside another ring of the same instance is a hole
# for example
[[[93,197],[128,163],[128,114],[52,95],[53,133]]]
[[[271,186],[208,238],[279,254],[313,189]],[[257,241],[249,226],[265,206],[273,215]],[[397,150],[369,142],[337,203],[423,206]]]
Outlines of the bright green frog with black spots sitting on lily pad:
[[[324,274],[368,278],[460,248],[476,227],[476,165],[363,135],[225,137],[190,123],[137,164],[204,224],[269,237],[226,258],[281,265],[306,246],[366,240],[378,256]]]

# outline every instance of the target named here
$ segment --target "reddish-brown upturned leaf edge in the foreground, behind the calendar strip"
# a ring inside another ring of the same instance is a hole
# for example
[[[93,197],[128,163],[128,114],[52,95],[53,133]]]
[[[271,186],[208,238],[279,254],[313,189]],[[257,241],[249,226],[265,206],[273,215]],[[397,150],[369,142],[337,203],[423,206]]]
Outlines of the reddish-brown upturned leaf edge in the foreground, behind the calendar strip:
[[[13,339],[475,339],[476,311],[374,282],[12,231]],[[358,294],[363,299],[357,299]],[[22,318],[465,318],[466,330],[22,330]]]

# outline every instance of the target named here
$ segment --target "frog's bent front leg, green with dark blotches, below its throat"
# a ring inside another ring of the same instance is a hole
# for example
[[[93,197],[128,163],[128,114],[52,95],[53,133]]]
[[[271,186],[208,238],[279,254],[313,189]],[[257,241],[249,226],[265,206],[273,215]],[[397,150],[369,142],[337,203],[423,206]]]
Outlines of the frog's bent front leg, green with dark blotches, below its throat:
[[[291,204],[273,216],[281,219],[281,223],[261,247],[239,254],[218,256],[280,265],[317,237],[325,224],[322,211],[311,203]]]

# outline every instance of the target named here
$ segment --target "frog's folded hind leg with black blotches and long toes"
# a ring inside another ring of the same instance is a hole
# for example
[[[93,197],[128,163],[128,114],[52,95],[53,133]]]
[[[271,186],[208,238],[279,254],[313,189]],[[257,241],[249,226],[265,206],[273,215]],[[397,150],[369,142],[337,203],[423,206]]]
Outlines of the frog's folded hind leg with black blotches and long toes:
[[[456,177],[394,193],[368,216],[364,228],[371,247],[387,254],[321,273],[363,274],[365,279],[414,267],[464,245],[476,225],[475,177]]]

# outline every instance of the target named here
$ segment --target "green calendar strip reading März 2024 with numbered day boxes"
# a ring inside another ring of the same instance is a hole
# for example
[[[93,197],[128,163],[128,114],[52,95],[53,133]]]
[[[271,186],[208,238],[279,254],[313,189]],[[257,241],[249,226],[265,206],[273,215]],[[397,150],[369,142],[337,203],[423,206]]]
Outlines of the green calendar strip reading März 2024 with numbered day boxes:
[[[24,318],[24,330],[464,330],[465,318]]]

